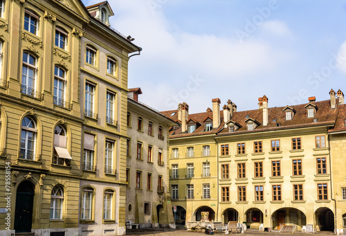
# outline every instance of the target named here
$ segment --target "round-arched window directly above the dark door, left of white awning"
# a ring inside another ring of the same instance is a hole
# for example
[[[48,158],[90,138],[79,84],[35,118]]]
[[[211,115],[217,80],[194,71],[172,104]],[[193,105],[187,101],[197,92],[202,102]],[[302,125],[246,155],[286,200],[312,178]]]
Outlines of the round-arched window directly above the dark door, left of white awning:
[[[20,158],[35,161],[35,141],[37,129],[35,121],[26,116],[21,122]]]

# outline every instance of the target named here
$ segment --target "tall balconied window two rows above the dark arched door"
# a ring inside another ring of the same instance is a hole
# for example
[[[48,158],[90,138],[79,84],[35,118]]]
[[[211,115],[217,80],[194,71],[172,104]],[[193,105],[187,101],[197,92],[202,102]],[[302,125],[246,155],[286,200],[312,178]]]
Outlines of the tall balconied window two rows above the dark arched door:
[[[23,53],[23,68],[21,72],[21,93],[35,96],[36,57],[30,53]]]

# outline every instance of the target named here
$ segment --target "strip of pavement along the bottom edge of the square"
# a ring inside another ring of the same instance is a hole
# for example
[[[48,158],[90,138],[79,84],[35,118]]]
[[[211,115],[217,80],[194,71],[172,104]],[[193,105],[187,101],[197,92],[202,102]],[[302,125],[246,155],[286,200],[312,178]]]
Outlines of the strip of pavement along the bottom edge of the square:
[[[145,235],[145,236],[199,236],[199,235],[206,235],[203,232],[192,232],[192,231],[187,231],[182,228],[177,228],[177,229],[169,229],[169,228],[146,228],[146,229],[139,229],[139,230],[127,230],[127,235]],[[225,235],[224,232],[216,232],[215,235]],[[280,235],[280,236],[288,236],[288,235],[311,235],[311,234],[302,234],[302,233],[278,233],[278,232],[270,232],[270,233],[264,233],[264,232],[258,232],[258,231],[245,231],[244,234],[235,234],[232,233],[230,235],[244,235],[244,236],[249,236],[249,235],[269,235],[269,236],[275,236],[275,235]],[[325,231],[325,232],[318,232],[313,235],[316,236],[324,236],[324,235],[334,235],[333,232]]]

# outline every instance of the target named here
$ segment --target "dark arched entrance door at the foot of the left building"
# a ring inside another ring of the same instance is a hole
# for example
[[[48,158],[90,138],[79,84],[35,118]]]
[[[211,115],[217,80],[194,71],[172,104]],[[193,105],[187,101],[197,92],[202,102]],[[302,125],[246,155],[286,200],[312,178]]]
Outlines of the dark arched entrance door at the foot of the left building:
[[[33,223],[34,189],[30,181],[22,182],[17,189],[15,230],[16,233],[30,233]]]

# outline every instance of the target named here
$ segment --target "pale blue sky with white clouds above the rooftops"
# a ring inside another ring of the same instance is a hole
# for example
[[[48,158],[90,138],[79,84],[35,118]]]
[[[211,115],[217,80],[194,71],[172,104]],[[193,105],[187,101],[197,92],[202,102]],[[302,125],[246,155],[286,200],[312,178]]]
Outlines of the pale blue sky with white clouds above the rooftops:
[[[98,0],[83,0],[86,6]],[[143,48],[129,60],[129,88],[160,111],[239,111],[346,95],[346,0],[109,0],[111,26]]]

